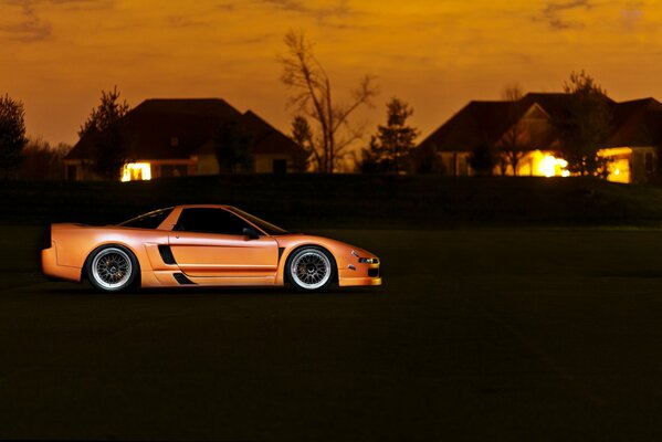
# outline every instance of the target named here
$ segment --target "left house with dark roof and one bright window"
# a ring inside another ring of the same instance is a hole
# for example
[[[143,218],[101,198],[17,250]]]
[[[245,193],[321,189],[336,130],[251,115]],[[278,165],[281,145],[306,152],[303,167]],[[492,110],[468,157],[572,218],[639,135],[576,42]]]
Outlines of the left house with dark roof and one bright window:
[[[213,139],[228,123],[251,138],[251,171],[295,171],[300,148],[255,113],[242,114],[220,98],[153,98],[120,120],[128,140],[128,161],[118,178],[129,181],[218,173]],[[64,158],[65,178],[98,179],[92,168],[95,149],[95,135],[83,136]]]

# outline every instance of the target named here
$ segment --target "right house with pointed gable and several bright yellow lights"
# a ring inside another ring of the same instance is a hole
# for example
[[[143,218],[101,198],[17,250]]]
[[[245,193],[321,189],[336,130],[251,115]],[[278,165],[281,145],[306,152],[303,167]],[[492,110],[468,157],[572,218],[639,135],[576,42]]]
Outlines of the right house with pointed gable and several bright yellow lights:
[[[471,102],[441,125],[416,149],[417,170],[432,164],[444,175],[474,175],[470,156],[479,146],[503,148],[517,128],[521,146],[527,146],[517,164],[519,176],[568,176],[567,161],[555,157],[561,143],[554,125],[566,113],[569,94],[529,93],[518,102]],[[662,146],[662,103],[654,98],[616,103],[609,99],[612,122],[607,143],[598,155],[610,158],[608,180],[645,182],[658,173]],[[514,110],[515,114],[514,114]],[[500,165],[495,175],[515,175]]]

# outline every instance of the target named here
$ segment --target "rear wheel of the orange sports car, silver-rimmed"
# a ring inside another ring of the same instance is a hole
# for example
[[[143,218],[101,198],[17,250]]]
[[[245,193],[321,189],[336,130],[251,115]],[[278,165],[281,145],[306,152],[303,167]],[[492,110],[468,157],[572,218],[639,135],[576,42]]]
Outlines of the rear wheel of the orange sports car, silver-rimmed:
[[[106,293],[129,290],[137,282],[140,267],[136,256],[122,245],[102,245],[85,263],[92,286]]]

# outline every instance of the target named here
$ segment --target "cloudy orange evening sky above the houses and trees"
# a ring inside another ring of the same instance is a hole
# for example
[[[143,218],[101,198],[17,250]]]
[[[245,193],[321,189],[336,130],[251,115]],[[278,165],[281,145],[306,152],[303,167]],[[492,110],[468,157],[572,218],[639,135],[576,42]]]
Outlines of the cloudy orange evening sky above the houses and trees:
[[[652,0],[0,0],[0,93],[24,102],[28,131],[76,141],[101,90],[222,97],[288,130],[276,61],[288,29],[316,41],[338,98],[378,77],[376,107],[414,108],[427,136],[507,83],[559,91],[585,69],[618,101],[662,98],[662,3]]]

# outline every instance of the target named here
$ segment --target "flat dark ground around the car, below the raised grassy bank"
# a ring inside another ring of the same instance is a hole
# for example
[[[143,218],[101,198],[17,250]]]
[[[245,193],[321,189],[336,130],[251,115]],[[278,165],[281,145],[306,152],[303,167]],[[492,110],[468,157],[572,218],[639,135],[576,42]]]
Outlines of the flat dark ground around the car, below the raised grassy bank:
[[[4,228],[0,439],[662,438],[662,231],[324,233],[385,285],[101,295]]]

